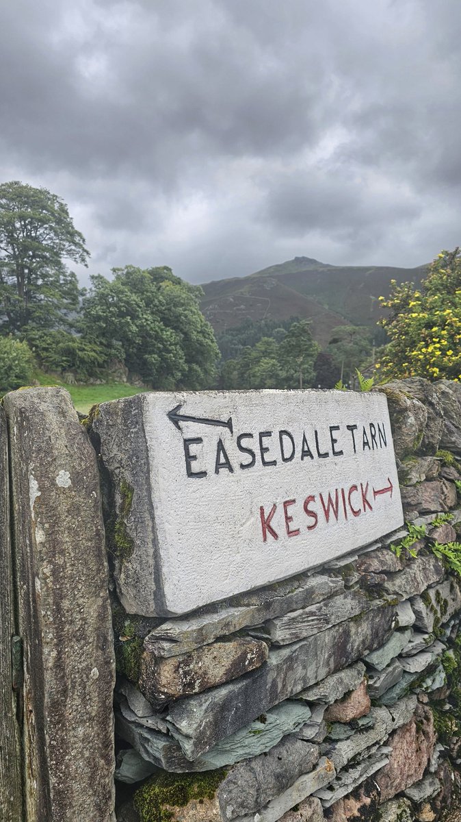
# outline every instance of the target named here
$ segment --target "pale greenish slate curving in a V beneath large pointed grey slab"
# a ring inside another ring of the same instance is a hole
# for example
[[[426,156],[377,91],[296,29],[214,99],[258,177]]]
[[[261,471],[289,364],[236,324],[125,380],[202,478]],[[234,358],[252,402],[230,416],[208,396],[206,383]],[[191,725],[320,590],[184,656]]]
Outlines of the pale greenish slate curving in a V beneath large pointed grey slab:
[[[175,739],[156,732],[155,727],[149,727],[145,719],[136,721],[126,710],[116,713],[116,730],[144,760],[166,770],[183,773],[218,769],[258,756],[277,745],[287,734],[296,733],[303,738],[303,729],[308,725],[310,713],[307,705],[285,700],[253,723],[222,739],[193,762],[185,759]],[[316,723],[316,732],[320,732],[320,728],[321,724]]]

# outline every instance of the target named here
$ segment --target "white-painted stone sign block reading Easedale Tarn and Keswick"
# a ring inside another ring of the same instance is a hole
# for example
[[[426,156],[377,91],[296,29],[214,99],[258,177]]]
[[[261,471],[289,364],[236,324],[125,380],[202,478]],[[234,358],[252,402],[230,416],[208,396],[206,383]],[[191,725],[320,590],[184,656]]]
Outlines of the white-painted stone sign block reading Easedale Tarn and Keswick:
[[[94,429],[128,612],[188,612],[403,523],[382,394],[143,394],[100,405]]]

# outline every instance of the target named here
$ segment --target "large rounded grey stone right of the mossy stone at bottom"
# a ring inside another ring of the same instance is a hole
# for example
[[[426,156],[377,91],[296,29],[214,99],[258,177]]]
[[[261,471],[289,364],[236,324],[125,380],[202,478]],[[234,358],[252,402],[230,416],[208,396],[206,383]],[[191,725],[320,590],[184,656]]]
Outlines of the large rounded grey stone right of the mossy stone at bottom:
[[[222,818],[234,820],[258,812],[308,774],[318,759],[316,745],[285,737],[267,754],[235,765],[217,790]]]

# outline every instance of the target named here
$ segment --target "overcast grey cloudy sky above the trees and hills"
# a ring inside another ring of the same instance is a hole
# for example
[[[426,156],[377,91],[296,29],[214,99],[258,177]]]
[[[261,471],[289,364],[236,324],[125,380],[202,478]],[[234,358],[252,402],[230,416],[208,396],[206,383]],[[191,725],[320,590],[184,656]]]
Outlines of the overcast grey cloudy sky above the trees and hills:
[[[0,178],[63,197],[91,272],[198,283],[302,255],[416,266],[461,244],[459,0],[0,14]]]

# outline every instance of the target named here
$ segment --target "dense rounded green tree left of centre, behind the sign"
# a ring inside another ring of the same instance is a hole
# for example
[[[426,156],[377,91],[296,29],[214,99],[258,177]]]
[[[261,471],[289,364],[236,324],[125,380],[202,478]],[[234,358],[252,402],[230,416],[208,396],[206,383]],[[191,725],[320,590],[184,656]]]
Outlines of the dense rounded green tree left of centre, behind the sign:
[[[107,362],[120,359],[154,388],[210,386],[219,357],[212,327],[199,308],[202,289],[170,268],[114,269],[91,278],[83,300],[83,339],[98,343]]]

